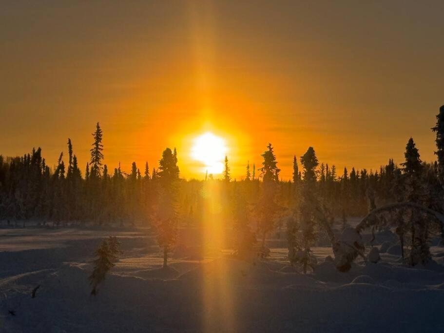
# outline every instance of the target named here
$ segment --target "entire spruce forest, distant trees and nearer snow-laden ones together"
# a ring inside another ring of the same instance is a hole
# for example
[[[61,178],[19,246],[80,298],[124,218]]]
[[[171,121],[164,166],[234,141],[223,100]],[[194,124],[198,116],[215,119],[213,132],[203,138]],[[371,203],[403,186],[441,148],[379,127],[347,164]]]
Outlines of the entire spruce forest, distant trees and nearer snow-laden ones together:
[[[431,236],[444,236],[444,106],[436,118],[431,129],[436,133],[433,163],[421,160],[412,137],[406,142],[402,163],[389,158],[374,171],[344,168],[339,172],[334,165],[320,162],[309,147],[303,156],[294,156],[289,181],[279,177],[271,143],[259,167],[246,163],[240,181],[232,179],[228,157],[220,179],[212,175],[205,180],[180,178],[175,148],[166,148],[152,170],[146,162],[141,172],[133,162],[129,173],[120,165],[110,171],[103,164],[103,133],[97,123],[84,172],[70,139],[67,158],[60,153],[55,168],[43,158],[41,148],[21,157],[0,156],[0,220],[23,228],[28,221],[42,227],[149,226],[157,235],[166,266],[179,229],[199,229],[205,219],[217,216],[229,235],[224,241],[238,256],[267,256],[266,237],[275,232],[280,237],[285,230],[289,260],[301,263],[306,272],[313,266],[310,247],[319,237],[329,237],[337,252],[341,244],[334,234],[347,229],[350,218],[368,214],[357,232],[395,227],[403,258],[411,265],[425,263],[430,259]],[[216,206],[211,203],[214,200]],[[336,258],[338,269],[349,269],[349,261],[360,254],[359,242],[352,249],[351,254],[345,250],[347,259]]]

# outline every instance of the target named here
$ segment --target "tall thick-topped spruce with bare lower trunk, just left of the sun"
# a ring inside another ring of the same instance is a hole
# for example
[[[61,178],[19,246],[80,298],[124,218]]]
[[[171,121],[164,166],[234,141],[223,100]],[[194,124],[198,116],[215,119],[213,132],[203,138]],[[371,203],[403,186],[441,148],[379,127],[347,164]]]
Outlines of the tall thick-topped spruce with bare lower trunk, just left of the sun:
[[[160,183],[160,197],[157,208],[157,241],[163,249],[163,267],[166,268],[168,253],[177,237],[176,196],[179,181],[177,156],[173,154],[170,148],[166,148],[162,153],[157,176]]]

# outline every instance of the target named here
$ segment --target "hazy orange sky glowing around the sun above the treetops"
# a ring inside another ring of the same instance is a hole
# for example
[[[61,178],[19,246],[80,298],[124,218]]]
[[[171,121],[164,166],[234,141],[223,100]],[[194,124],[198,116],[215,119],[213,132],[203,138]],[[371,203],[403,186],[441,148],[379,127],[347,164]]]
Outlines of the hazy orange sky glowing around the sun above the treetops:
[[[226,141],[232,176],[274,146],[281,176],[313,146],[341,171],[402,162],[413,137],[435,160],[444,104],[443,1],[1,1],[0,154],[68,137],[82,169],[91,133],[104,163],[158,165],[176,147]],[[222,157],[221,157],[222,158]]]

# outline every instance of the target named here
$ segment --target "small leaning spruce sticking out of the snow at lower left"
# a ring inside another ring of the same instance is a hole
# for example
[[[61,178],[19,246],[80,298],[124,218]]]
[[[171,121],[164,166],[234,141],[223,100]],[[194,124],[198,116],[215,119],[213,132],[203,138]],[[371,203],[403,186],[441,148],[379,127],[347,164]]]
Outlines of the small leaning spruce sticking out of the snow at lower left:
[[[116,237],[110,237],[109,241],[104,239],[96,250],[97,258],[94,260],[93,273],[88,277],[90,285],[93,287],[91,294],[97,294],[98,285],[105,280],[106,273],[114,267],[113,261],[116,261],[119,242]],[[111,242],[111,244],[110,244]]]

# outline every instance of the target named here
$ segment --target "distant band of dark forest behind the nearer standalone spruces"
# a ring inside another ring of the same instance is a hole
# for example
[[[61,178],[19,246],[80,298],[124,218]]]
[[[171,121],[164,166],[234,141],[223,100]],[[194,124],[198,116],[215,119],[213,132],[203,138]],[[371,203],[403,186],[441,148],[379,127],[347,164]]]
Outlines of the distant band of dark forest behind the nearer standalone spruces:
[[[434,129],[437,137],[440,137],[439,126],[438,122]],[[102,130],[98,123],[93,138],[91,159],[84,172],[80,171],[77,164],[70,139],[67,143],[67,164],[61,153],[55,170],[47,165],[40,148],[33,149],[30,154],[22,157],[0,156],[0,218],[12,221],[33,219],[40,220],[42,224],[48,221],[56,224],[149,223],[158,204],[159,166],[150,171],[146,162],[141,172],[133,162],[130,173],[122,171],[120,164],[110,172],[107,165],[102,165]],[[173,154],[177,160],[175,149]],[[279,186],[273,193],[274,201],[280,207],[288,209],[297,205],[299,187],[304,180],[308,176],[313,177],[317,198],[328,207],[333,216],[344,220],[344,223],[347,217],[367,213],[369,190],[374,193],[378,205],[399,201],[400,196],[405,196],[406,191],[416,186],[406,182],[405,175],[410,169],[414,170],[412,172],[415,175],[421,173],[419,182],[424,187],[422,191],[428,193],[421,196],[427,196],[428,199],[424,200],[429,204],[434,201],[433,197],[436,197],[435,192],[439,188],[441,169],[438,161],[434,164],[422,162],[412,138],[406,146],[405,163],[398,166],[393,159],[389,159],[387,165],[375,171],[354,168],[348,171],[344,168],[339,173],[334,165],[319,163],[311,147],[307,154],[299,159],[294,156],[293,176],[290,181],[279,180],[280,169],[276,166],[271,144],[261,156],[261,168],[256,170],[253,166],[251,170],[250,164],[247,164],[242,181],[232,181],[226,158],[223,180],[230,184],[228,191],[241,192],[243,199],[251,205],[257,203],[260,189],[266,188],[269,178],[275,180]],[[437,154],[441,159],[444,158],[439,155],[440,149]],[[306,158],[311,158],[308,165],[305,165]],[[268,165],[270,163],[272,165]],[[409,167],[410,163],[415,166]],[[272,177],[267,168],[272,169]],[[308,175],[306,168],[313,168],[314,174]],[[259,173],[258,176],[255,176],[256,172]],[[217,180],[209,177],[207,181]],[[186,215],[192,215],[198,220],[203,185],[204,181],[180,179],[177,205],[184,215],[183,219],[189,220],[190,216]]]

